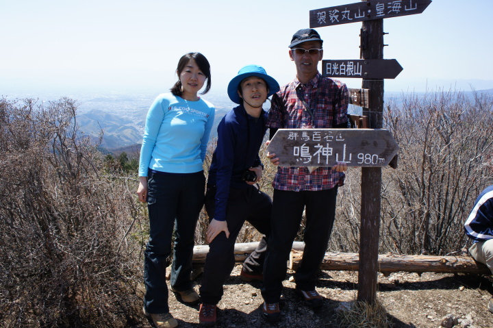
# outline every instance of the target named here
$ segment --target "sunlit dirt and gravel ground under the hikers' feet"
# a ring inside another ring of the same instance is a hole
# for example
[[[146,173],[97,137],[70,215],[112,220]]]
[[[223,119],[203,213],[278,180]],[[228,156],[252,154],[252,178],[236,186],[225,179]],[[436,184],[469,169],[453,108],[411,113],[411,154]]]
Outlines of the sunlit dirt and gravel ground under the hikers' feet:
[[[239,277],[240,269],[237,265],[226,282],[215,327],[342,327],[336,311],[357,297],[357,273],[321,271],[317,290],[325,298],[324,305],[314,312],[294,293],[294,282],[286,279],[285,300],[280,303],[281,320],[273,325],[266,323],[260,312],[261,283],[244,283]],[[288,276],[292,276],[289,270]],[[377,299],[385,307],[394,328],[441,327],[442,318],[447,314],[462,319],[462,323],[454,327],[493,327],[493,314],[487,308],[493,293],[492,281],[491,277],[479,275],[392,273],[384,277],[379,274]],[[195,282],[198,291],[201,277]],[[173,293],[169,304],[179,327],[201,327],[198,305],[180,303]]]

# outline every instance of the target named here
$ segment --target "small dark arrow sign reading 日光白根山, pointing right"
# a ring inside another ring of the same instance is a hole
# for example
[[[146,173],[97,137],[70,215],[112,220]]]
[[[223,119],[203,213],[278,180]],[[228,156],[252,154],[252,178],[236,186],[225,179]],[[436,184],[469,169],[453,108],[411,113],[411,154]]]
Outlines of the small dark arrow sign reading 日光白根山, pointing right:
[[[394,59],[323,60],[322,75],[364,79],[395,79],[403,70]]]

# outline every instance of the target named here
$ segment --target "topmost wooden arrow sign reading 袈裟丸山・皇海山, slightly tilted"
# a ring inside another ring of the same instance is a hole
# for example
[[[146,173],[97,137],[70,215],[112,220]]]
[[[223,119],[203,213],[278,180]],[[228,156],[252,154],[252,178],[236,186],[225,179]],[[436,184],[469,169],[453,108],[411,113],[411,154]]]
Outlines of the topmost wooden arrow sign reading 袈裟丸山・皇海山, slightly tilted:
[[[310,10],[310,27],[316,28],[421,14],[430,3],[431,0],[389,0],[382,2],[368,0],[349,5]]]

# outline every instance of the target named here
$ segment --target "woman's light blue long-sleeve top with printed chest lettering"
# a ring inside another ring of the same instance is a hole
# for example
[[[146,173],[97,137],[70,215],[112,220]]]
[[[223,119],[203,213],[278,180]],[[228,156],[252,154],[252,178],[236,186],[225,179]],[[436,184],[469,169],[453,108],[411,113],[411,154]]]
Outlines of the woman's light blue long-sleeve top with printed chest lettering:
[[[202,171],[214,113],[214,105],[203,99],[160,94],[147,112],[139,176],[147,177],[149,168],[166,173]]]

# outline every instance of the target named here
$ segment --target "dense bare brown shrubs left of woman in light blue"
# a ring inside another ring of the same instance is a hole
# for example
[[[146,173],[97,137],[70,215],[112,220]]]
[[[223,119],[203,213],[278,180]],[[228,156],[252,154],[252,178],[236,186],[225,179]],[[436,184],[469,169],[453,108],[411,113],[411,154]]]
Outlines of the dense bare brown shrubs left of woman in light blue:
[[[0,101],[2,327],[137,320],[140,209],[125,180],[101,175],[103,155],[79,133],[76,109],[66,98]]]

